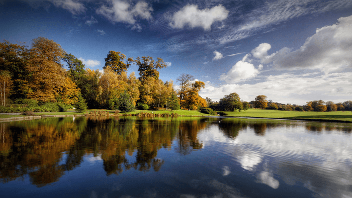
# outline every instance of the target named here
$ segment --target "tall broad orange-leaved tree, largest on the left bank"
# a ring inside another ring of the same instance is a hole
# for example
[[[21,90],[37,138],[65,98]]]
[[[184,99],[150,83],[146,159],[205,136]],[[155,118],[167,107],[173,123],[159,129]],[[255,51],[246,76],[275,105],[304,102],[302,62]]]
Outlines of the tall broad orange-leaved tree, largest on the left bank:
[[[33,39],[30,49],[30,66],[32,72],[31,92],[28,96],[38,101],[56,102],[58,87],[62,86],[65,72],[61,59],[65,55],[61,46],[44,37]]]

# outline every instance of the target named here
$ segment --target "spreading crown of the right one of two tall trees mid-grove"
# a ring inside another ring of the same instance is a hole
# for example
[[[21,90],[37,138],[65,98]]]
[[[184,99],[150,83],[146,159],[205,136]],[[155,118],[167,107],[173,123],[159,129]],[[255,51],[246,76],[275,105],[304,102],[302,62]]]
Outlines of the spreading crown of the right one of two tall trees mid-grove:
[[[148,76],[159,79],[159,72],[157,69],[161,69],[167,66],[161,58],[157,58],[157,61],[155,62],[154,59],[150,56],[142,56],[142,59],[138,56],[134,62],[138,66],[138,79],[142,82]]]

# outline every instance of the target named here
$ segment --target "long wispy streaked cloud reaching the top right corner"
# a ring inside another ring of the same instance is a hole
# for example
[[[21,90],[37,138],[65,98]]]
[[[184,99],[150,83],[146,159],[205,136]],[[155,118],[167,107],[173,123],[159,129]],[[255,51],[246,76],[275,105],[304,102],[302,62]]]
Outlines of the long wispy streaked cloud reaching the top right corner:
[[[316,14],[341,8],[351,8],[352,1],[321,1],[321,0],[278,0],[267,1],[260,7],[250,11],[242,18],[244,21],[230,28],[218,38],[221,44],[241,40],[258,32],[273,30],[277,25],[308,14]]]

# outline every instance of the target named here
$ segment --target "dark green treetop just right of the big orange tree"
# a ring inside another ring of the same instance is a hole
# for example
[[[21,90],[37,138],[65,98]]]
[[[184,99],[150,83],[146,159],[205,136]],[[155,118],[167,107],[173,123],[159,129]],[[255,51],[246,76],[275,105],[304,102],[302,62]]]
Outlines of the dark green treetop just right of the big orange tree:
[[[63,61],[67,63],[68,71],[67,75],[73,82],[77,84],[78,87],[81,87],[82,78],[85,74],[84,64],[81,60],[77,59],[72,54],[65,54]]]

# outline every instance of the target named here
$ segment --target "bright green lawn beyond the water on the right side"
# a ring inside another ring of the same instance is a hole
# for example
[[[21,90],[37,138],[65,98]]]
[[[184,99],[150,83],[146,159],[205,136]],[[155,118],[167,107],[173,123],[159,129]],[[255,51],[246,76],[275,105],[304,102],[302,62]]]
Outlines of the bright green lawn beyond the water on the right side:
[[[285,119],[323,119],[323,120],[341,120],[352,122],[352,112],[288,112],[277,110],[258,110],[248,109],[241,112],[226,112],[228,116],[234,117],[255,117],[255,118],[285,118]]]

